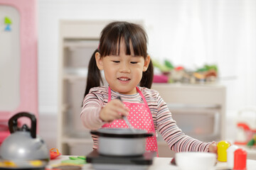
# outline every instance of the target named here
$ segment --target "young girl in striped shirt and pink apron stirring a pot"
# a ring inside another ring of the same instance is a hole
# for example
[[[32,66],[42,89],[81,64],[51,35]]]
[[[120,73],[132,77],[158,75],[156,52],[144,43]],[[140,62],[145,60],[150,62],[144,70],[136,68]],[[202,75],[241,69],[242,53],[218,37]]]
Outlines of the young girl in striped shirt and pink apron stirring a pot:
[[[101,33],[100,45],[88,69],[85,98],[80,115],[85,128],[134,128],[158,130],[174,152],[217,152],[215,142],[206,143],[185,135],[171,118],[159,93],[151,88],[153,65],[147,54],[147,35],[134,23],[112,22]],[[108,86],[100,86],[104,71]],[[122,101],[117,99],[122,98]],[[92,135],[93,149],[97,136]],[[156,151],[156,136],[146,139],[146,150]]]

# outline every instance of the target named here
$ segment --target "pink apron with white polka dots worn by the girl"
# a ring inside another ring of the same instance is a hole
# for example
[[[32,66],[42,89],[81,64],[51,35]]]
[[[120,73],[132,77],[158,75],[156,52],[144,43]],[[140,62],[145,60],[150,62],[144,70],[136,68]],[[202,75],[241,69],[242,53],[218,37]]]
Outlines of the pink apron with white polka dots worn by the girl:
[[[146,99],[144,98],[142,91],[136,86],[137,92],[142,96],[144,103],[130,103],[124,102],[124,106],[129,108],[129,115],[127,115],[127,119],[129,123],[135,129],[143,129],[147,130],[147,132],[152,132],[155,134],[154,121],[149,110],[149,106],[146,103]],[[111,89],[109,86],[108,89],[108,102],[111,101]],[[118,119],[114,120],[111,123],[105,123],[102,125],[102,128],[129,128],[124,120]],[[158,148],[156,135],[152,137],[146,138],[146,151],[155,151],[158,157]]]

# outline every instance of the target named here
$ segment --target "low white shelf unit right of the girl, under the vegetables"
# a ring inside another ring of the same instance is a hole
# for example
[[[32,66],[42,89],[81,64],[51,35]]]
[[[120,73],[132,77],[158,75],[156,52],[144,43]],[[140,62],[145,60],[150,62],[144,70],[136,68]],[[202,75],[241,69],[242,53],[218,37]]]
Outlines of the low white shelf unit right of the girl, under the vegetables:
[[[153,84],[186,135],[204,142],[225,140],[225,86],[218,84]],[[160,135],[159,135],[160,136]],[[159,137],[159,157],[174,153]]]

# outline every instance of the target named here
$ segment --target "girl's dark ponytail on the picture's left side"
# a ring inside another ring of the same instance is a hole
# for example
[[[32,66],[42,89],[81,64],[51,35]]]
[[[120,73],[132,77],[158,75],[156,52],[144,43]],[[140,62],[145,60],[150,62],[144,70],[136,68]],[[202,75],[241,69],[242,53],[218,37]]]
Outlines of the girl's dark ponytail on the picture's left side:
[[[90,58],[84,98],[87,94],[89,94],[89,91],[92,87],[100,86],[100,82],[103,82],[100,74],[100,69],[98,69],[95,60],[96,52],[99,52],[99,50],[95,50],[95,52],[93,52],[92,54],[92,57]]]

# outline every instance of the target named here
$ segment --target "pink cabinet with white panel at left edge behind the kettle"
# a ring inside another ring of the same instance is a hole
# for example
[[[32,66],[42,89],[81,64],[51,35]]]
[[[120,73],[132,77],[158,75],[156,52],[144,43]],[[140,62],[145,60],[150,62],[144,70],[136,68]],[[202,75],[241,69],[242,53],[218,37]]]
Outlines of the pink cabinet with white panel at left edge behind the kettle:
[[[36,16],[36,0],[0,0],[0,142],[12,115],[38,118]]]

